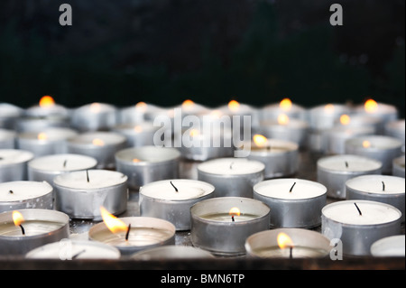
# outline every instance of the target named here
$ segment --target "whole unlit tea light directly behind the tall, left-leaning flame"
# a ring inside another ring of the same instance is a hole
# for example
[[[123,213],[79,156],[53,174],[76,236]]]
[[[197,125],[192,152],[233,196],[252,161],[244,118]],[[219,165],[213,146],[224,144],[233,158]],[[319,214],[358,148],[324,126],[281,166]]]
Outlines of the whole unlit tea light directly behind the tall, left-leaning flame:
[[[67,172],[53,180],[55,207],[70,218],[101,219],[100,206],[117,215],[127,209],[127,176],[108,170]]]

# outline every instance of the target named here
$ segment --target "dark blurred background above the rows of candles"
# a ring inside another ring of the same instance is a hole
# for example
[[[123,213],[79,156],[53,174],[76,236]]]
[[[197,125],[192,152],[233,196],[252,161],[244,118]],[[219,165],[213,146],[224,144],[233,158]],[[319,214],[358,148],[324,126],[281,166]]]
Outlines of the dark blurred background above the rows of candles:
[[[72,26],[59,23],[63,3]],[[329,23],[333,3],[343,26]],[[0,102],[374,98],[404,113],[404,14],[404,0],[2,0]]]

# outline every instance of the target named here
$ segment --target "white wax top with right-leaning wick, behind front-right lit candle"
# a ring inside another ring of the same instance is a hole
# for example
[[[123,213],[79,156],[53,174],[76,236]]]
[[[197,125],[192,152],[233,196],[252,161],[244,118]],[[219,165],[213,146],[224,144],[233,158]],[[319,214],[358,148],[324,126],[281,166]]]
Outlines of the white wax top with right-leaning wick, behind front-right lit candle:
[[[327,193],[327,188],[315,181],[285,178],[259,182],[254,191],[271,198],[302,200],[321,196]]]

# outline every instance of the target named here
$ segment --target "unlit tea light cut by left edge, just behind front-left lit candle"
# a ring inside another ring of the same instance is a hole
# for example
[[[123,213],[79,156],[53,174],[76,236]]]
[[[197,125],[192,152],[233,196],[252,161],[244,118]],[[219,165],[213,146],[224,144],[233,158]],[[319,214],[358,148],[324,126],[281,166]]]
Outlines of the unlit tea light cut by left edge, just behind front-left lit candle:
[[[0,183],[0,212],[15,209],[53,209],[53,189],[42,181]]]

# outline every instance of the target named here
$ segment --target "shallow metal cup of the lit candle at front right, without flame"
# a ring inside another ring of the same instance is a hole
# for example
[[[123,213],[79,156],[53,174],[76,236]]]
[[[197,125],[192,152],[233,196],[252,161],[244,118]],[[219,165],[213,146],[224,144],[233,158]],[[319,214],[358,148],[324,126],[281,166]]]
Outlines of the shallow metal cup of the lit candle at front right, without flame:
[[[281,249],[278,235],[291,238],[293,247]],[[333,247],[328,237],[303,228],[277,228],[255,233],[245,241],[246,254],[253,258],[325,258]]]

